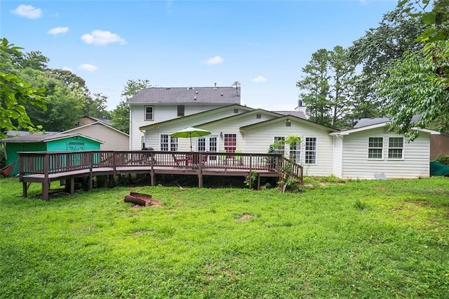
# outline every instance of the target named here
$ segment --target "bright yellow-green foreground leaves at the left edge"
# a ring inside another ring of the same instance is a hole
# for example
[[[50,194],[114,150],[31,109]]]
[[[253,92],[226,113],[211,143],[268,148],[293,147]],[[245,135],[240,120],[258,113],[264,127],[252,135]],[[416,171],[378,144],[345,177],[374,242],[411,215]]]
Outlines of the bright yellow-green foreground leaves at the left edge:
[[[11,53],[20,56],[19,50],[7,39],[1,39],[1,65],[6,59],[11,62]],[[46,109],[43,92],[43,88],[35,88],[15,74],[0,72],[0,138],[5,138],[5,131],[33,126],[25,105]]]

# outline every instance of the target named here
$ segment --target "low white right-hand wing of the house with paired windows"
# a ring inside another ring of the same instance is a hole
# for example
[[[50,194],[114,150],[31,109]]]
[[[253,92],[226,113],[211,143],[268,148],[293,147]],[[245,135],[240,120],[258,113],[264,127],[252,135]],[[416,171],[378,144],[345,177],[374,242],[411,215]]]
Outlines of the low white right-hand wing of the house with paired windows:
[[[388,121],[387,117],[361,119],[352,129],[330,133],[333,174],[364,179],[429,177],[431,137],[440,133],[416,128],[419,136],[408,142],[403,135],[389,132]]]

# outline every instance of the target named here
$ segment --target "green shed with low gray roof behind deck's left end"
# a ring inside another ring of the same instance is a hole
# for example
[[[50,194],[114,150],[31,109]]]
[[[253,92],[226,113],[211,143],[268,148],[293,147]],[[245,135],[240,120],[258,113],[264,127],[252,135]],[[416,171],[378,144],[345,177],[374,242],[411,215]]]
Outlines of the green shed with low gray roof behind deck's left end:
[[[18,152],[75,152],[100,150],[100,140],[82,134],[30,134],[0,140],[4,143],[6,165],[13,165],[11,175],[19,171]]]

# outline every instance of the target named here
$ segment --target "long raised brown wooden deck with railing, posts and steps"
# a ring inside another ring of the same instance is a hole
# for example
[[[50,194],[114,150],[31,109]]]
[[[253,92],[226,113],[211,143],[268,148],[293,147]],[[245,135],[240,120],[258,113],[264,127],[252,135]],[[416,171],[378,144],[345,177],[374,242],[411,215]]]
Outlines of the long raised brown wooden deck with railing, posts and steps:
[[[261,177],[281,179],[282,169],[290,166],[302,183],[302,167],[283,158],[281,154],[156,152],[156,151],[82,151],[82,152],[20,152],[19,180],[23,196],[32,182],[42,185],[42,197],[48,200],[52,181],[66,180],[67,190],[74,193],[74,179],[88,178],[88,189],[93,187],[93,177],[145,173],[156,185],[156,174],[197,175],[198,187],[203,185],[203,175],[247,176],[257,172],[257,189]],[[250,182],[251,183],[251,182]],[[251,184],[250,184],[251,185]]]

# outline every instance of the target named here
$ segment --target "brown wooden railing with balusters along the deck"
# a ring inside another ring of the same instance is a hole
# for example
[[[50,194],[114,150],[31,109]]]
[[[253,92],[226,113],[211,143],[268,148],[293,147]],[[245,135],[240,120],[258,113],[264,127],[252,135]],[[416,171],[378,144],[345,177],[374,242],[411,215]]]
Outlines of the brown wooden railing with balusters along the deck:
[[[192,169],[276,171],[282,169],[281,154],[228,152],[79,151],[19,152],[19,175],[53,174],[93,168],[161,166]]]

